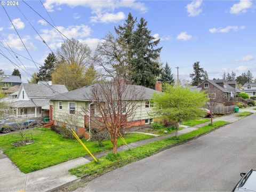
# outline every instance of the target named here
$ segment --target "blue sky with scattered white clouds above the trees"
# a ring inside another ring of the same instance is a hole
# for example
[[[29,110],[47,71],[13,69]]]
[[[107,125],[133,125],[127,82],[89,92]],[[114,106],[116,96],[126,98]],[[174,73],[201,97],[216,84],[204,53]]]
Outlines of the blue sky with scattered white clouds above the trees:
[[[39,1],[26,2],[51,22]],[[80,39],[92,50],[108,31],[114,32],[114,26],[122,24],[131,12],[138,19],[145,18],[151,35],[161,38],[161,60],[168,62],[175,74],[175,67],[179,66],[181,78],[189,79],[195,61],[200,61],[210,78],[221,78],[223,71],[233,70],[239,75],[248,69],[256,76],[255,1],[47,0],[43,3],[62,33],[69,38]],[[51,49],[57,50],[62,42],[58,32],[25,3],[19,1],[18,6]],[[4,7],[33,59],[43,64],[49,49],[38,39],[17,7],[6,4]],[[15,30],[10,28],[3,7],[0,8],[0,34],[13,51],[29,58]],[[2,38],[0,41],[3,42]],[[2,47],[0,50],[12,59]],[[33,62],[20,59],[30,74],[37,70]],[[0,68],[6,74],[13,70],[12,64],[2,55]],[[26,82],[30,77],[21,73],[22,81]]]

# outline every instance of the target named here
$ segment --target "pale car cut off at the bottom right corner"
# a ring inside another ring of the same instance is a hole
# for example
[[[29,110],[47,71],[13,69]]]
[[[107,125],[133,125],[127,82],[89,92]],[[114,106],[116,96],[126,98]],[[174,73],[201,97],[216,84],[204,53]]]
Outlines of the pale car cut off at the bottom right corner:
[[[256,170],[240,173],[242,179],[237,183],[233,191],[256,191]]]

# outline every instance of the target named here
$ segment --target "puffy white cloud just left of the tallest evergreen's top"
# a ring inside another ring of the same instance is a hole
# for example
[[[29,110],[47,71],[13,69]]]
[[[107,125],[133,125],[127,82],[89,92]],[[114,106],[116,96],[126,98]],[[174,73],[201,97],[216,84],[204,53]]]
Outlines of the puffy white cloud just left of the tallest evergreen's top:
[[[96,16],[90,17],[91,22],[101,22],[101,23],[110,23],[118,22],[125,19],[125,14],[123,12],[118,13],[97,13]]]

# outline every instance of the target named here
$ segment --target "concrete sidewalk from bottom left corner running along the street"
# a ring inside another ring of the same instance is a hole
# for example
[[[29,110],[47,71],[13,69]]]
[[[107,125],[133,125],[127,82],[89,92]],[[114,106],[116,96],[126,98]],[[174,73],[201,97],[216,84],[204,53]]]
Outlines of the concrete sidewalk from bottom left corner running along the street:
[[[256,113],[256,110],[251,108],[239,110],[239,113],[243,111],[251,111]],[[231,115],[214,118],[215,121],[226,121],[229,123],[233,123],[241,117],[237,117],[238,113],[234,113]],[[209,122],[202,123],[193,127],[187,127],[180,131],[178,134],[185,134],[191,131],[198,129],[204,125],[209,124]],[[137,142],[130,143],[128,146],[120,146],[118,151],[126,150],[129,148],[135,148],[138,146],[145,145],[149,142],[162,140],[166,138],[174,137],[175,133],[162,135],[146,140],[140,140]],[[95,157],[100,158],[105,156],[109,151],[104,151],[99,154],[94,154]],[[46,169],[38,170],[35,172],[31,172],[28,174],[22,173],[13,163],[7,158],[2,151],[0,151],[0,191],[47,191],[54,190],[58,187],[62,187],[63,185],[68,185],[71,182],[75,182],[80,178],[77,178],[75,175],[71,175],[68,170],[74,167],[84,165],[89,163],[92,160],[91,156],[79,157],[73,160],[70,160],[65,163],[60,163],[55,166],[47,167]]]

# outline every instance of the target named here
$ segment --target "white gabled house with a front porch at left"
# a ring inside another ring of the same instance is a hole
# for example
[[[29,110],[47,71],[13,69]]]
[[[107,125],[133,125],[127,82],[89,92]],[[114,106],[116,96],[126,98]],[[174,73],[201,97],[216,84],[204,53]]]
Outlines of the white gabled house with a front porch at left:
[[[50,99],[55,95],[68,92],[65,85],[22,83],[19,92],[13,93],[10,106],[19,118],[49,117]]]

